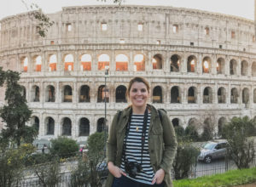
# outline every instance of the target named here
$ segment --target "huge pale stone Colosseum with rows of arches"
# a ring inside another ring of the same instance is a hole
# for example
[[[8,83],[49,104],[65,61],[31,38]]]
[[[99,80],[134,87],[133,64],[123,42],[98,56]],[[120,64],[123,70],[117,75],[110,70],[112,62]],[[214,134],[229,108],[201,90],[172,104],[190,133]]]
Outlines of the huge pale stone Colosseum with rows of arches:
[[[32,13],[0,21],[0,66],[20,71],[39,139],[78,141],[104,129],[128,103],[131,77],[151,85],[150,103],[174,126],[256,116],[253,20],[153,6],[65,7],[39,37]],[[106,85],[106,86],[105,86]],[[0,95],[4,104],[4,92]],[[3,124],[2,124],[3,127]]]

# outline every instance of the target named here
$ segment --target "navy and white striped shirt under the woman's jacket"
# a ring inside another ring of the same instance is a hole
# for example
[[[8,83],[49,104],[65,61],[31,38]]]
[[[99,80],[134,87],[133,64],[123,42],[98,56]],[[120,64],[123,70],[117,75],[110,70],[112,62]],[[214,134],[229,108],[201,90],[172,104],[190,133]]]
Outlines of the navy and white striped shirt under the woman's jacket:
[[[131,115],[131,125],[129,132],[127,133],[127,142],[124,139],[124,149],[126,147],[125,154],[122,157],[121,170],[125,172],[125,156],[128,161],[136,161],[142,166],[142,171],[137,173],[135,178],[128,178],[135,180],[143,184],[151,184],[154,178],[154,170],[150,165],[150,157],[148,152],[148,128],[150,124],[150,116],[148,113],[148,122],[146,128],[145,142],[143,148],[143,162],[141,163],[142,156],[142,133],[143,133],[143,119],[144,115]],[[125,156],[124,156],[125,155]]]

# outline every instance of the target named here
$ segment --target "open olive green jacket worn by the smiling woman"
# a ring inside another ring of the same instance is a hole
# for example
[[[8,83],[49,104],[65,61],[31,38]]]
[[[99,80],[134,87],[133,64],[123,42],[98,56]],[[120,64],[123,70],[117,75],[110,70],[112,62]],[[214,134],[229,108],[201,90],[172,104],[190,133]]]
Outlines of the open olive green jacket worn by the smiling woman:
[[[148,129],[148,151],[151,166],[154,169],[154,173],[162,168],[166,173],[164,178],[166,187],[172,187],[171,167],[177,148],[174,128],[165,112],[160,111],[162,115],[161,123],[158,111],[154,106],[148,105],[148,107],[151,111],[150,126]],[[108,161],[113,161],[113,164],[117,167],[120,167],[121,165],[123,143],[130,111],[131,106],[122,111],[119,120],[117,113],[113,117],[113,122],[109,131],[107,158]],[[106,187],[111,187],[112,184],[113,175],[108,173]]]

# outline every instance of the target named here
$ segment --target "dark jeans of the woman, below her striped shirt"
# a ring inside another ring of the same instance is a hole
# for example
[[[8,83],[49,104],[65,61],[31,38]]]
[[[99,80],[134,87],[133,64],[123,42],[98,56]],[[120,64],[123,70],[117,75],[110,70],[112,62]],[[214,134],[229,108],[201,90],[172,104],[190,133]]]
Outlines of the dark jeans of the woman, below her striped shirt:
[[[122,175],[120,178],[114,178],[112,187],[164,187],[164,182],[162,184],[143,184],[126,178]]]

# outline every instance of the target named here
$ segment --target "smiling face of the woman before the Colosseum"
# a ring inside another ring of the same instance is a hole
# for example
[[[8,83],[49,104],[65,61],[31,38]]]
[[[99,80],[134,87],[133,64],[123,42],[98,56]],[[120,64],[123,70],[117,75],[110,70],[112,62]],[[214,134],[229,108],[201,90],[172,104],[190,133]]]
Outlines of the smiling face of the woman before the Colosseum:
[[[131,85],[131,90],[129,92],[129,99],[131,100],[131,105],[133,107],[141,108],[147,105],[148,100],[148,89],[143,82],[134,82]]]

